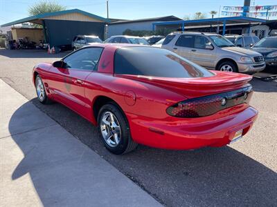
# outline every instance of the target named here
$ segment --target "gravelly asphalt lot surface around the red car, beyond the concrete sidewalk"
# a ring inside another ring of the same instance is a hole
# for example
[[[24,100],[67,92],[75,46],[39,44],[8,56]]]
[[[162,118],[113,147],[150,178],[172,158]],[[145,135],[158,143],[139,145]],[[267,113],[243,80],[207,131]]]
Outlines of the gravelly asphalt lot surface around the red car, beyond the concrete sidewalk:
[[[191,151],[139,146],[116,156],[105,150],[88,121],[59,103],[43,106],[35,99],[33,66],[64,55],[0,49],[0,78],[165,206],[276,206],[277,82],[251,81],[251,105],[259,117],[252,130],[230,146]]]

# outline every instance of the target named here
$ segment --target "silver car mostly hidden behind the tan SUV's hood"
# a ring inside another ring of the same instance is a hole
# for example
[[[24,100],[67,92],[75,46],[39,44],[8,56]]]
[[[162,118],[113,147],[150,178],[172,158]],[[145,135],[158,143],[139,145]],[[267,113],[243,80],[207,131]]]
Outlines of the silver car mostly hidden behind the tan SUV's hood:
[[[226,34],[224,37],[240,48],[251,48],[260,39],[253,34]]]

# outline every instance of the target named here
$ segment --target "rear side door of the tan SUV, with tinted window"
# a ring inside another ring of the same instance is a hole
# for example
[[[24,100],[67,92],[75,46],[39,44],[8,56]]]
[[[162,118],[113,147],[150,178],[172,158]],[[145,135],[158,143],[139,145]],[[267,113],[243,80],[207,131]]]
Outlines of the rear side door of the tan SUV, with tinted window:
[[[195,42],[195,36],[191,34],[182,34],[177,39],[175,45],[173,45],[173,52],[177,53],[181,57],[191,59],[191,51]]]

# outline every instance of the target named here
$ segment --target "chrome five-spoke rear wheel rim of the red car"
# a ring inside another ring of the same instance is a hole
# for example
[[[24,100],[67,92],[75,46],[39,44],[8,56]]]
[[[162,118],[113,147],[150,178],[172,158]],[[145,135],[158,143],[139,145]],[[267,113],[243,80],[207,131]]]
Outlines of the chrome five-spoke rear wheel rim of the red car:
[[[108,146],[118,146],[121,138],[120,124],[112,112],[105,112],[101,117],[100,130]]]

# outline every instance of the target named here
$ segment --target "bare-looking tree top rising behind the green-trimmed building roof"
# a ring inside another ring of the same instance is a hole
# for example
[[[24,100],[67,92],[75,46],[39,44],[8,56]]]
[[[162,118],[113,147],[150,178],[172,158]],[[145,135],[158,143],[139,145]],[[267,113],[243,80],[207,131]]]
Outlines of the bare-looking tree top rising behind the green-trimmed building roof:
[[[33,15],[44,14],[48,12],[58,12],[65,9],[66,9],[65,6],[62,6],[55,1],[42,0],[35,3],[33,6],[30,6],[30,8],[28,9],[28,12],[30,16],[33,16]]]

